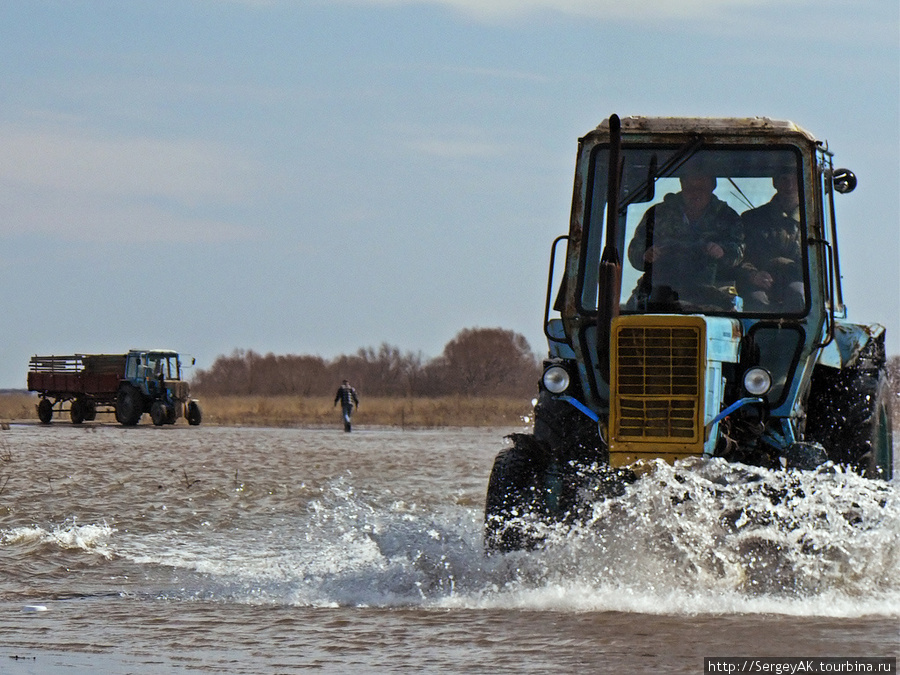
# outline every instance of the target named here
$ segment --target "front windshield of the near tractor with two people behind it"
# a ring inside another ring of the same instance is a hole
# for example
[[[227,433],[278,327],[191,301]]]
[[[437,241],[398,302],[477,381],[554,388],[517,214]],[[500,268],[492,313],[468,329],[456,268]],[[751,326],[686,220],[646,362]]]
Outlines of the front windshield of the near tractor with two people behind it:
[[[582,305],[597,306],[608,149],[587,194]],[[805,222],[791,147],[641,146],[622,150],[618,249],[622,313],[806,313]]]

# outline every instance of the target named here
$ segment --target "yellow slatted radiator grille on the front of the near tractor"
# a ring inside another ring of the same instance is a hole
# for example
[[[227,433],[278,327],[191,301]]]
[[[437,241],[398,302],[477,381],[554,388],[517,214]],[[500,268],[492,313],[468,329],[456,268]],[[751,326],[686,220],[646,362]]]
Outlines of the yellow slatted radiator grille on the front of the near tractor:
[[[619,324],[612,420],[617,439],[697,440],[701,339],[700,325]]]

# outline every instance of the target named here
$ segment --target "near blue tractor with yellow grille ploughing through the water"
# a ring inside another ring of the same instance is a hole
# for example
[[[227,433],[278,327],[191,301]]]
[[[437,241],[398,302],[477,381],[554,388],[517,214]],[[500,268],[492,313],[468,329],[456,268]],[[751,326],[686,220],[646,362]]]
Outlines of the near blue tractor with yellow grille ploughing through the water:
[[[580,139],[534,430],[494,463],[488,549],[534,545],[529,520],[576,517],[652,460],[890,479],[884,327],[841,294],[834,198],[856,182],[768,118],[613,115]]]

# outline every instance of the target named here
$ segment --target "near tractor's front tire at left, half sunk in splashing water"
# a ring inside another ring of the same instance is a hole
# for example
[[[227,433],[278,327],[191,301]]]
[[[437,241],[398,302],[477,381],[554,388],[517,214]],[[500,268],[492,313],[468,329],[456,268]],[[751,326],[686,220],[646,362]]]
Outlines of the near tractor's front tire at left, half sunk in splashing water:
[[[547,453],[533,436],[513,434],[513,446],[494,460],[484,507],[484,546],[488,553],[533,550],[549,515]]]

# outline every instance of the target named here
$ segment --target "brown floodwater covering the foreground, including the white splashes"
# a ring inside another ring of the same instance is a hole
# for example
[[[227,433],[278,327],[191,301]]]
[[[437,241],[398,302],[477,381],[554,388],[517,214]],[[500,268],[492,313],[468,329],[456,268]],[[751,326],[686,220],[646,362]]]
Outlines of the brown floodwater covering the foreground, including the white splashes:
[[[0,672],[900,653],[896,480],[658,466],[542,550],[485,556],[488,474],[521,430],[0,431]]]

